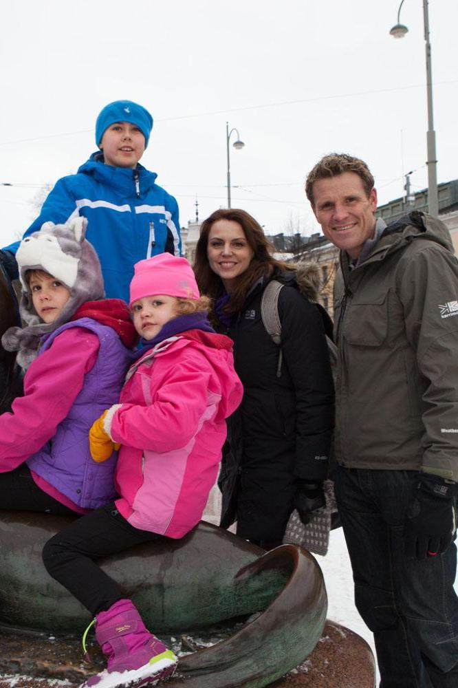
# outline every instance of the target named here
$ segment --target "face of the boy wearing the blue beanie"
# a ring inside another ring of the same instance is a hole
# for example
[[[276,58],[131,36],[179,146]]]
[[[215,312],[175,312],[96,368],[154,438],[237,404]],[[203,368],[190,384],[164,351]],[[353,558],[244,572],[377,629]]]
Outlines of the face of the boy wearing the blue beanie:
[[[144,153],[144,136],[131,122],[114,122],[105,129],[100,149],[105,164],[135,169]]]

